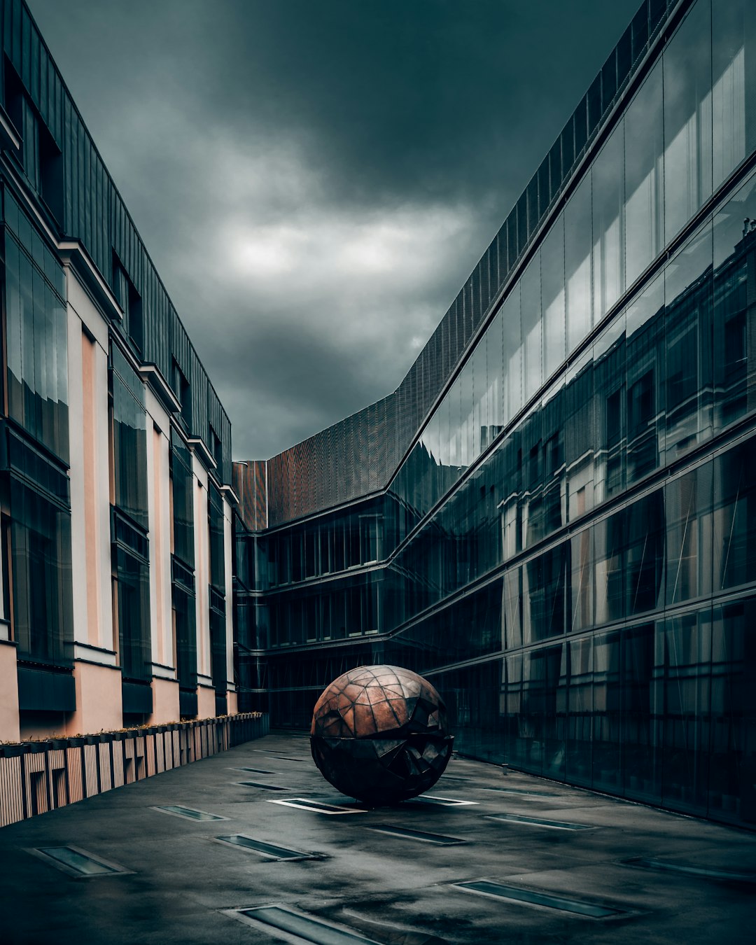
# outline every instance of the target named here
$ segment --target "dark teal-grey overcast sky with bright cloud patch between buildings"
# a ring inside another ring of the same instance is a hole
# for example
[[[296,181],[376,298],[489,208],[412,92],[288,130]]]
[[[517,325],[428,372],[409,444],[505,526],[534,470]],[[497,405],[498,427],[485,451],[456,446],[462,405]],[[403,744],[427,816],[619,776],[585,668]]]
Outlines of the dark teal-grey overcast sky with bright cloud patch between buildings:
[[[28,0],[267,458],[399,386],[640,0]]]

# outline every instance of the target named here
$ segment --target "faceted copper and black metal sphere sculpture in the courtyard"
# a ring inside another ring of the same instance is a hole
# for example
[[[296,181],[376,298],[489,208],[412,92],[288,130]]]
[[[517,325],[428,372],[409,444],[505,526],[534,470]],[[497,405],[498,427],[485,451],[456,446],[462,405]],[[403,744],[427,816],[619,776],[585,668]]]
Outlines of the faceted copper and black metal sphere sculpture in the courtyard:
[[[310,729],[315,764],[351,798],[391,804],[432,787],[452,755],[446,708],[417,673],[360,666],[318,699]]]

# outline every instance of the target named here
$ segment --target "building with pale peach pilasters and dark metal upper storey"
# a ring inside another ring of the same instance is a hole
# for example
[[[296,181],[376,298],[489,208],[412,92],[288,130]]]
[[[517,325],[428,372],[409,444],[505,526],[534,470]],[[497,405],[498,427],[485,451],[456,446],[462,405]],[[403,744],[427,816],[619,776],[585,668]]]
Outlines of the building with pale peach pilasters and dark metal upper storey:
[[[230,422],[21,0],[0,48],[0,740],[234,711]]]

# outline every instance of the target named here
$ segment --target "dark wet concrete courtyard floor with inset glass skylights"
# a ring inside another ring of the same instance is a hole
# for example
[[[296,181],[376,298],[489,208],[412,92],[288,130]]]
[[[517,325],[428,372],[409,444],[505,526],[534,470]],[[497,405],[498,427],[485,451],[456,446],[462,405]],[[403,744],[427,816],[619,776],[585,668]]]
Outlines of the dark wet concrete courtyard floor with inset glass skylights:
[[[756,940],[756,834],[461,758],[430,794],[362,810],[323,781],[304,736],[272,734],[0,830],[0,941]],[[172,805],[228,819],[155,809]],[[234,834],[300,856],[217,840]],[[30,852],[66,846],[129,871],[77,878]],[[531,892],[539,902],[521,900]]]

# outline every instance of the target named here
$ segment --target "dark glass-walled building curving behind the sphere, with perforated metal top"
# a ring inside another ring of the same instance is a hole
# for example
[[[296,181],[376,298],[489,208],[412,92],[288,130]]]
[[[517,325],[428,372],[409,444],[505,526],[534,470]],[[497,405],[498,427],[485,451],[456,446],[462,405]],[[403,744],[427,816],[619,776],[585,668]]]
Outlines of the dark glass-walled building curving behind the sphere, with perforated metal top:
[[[644,3],[401,387],[235,467],[244,704],[395,662],[460,751],[756,822],[755,148],[750,0]]]

